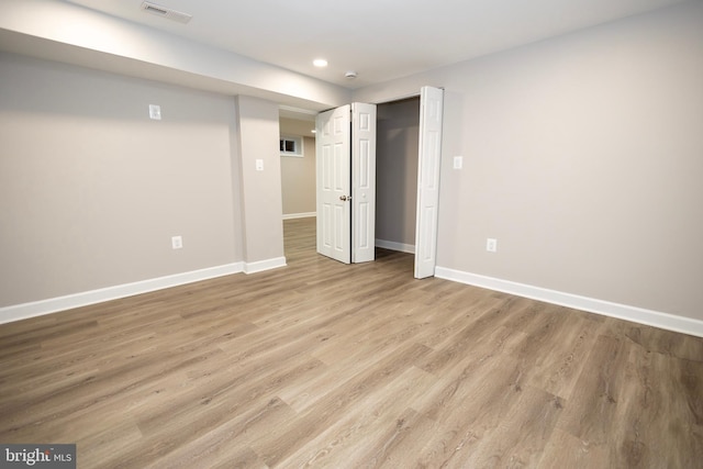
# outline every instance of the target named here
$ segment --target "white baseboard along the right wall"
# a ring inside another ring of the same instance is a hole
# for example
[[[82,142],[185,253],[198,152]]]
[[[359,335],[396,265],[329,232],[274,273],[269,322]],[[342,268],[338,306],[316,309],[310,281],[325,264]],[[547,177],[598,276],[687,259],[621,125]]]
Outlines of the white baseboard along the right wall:
[[[645,310],[643,308],[629,306],[627,304],[612,303],[610,301],[580,297],[578,294],[563,293],[556,290],[548,290],[509,280],[464,272],[445,267],[436,267],[435,277],[516,294],[518,297],[531,298],[533,300],[546,301],[548,303],[573,308],[576,310],[632,321],[667,331],[703,337],[703,321],[691,317],[677,316],[674,314]]]

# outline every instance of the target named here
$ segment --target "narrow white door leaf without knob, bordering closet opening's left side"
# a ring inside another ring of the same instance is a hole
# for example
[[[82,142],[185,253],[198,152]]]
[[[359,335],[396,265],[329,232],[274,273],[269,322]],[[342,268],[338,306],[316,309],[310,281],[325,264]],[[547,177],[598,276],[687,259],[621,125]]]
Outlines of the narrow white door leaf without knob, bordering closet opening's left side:
[[[352,104],[352,261],[376,258],[376,104]]]

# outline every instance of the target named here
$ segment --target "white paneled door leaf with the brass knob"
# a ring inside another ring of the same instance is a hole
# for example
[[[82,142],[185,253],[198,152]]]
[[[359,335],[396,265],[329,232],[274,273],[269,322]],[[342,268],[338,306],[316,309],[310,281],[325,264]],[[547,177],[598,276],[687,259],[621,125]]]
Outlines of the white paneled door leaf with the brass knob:
[[[350,105],[317,114],[317,253],[352,261]]]

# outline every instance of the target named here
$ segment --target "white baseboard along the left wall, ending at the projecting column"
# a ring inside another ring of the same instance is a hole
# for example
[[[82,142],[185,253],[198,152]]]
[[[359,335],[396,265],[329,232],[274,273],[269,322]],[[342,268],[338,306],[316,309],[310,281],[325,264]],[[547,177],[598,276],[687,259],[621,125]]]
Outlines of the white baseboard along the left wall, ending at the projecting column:
[[[132,297],[149,291],[161,290],[180,284],[208,280],[215,277],[241,273],[244,271],[244,263],[226,264],[224,266],[209,267],[207,269],[192,270],[172,276],[158,277],[132,283],[83,291],[65,297],[49,298],[47,300],[33,301],[12,306],[0,308],[0,324],[20,321],[27,317],[41,316],[72,308],[87,306],[102,303],[103,301]]]

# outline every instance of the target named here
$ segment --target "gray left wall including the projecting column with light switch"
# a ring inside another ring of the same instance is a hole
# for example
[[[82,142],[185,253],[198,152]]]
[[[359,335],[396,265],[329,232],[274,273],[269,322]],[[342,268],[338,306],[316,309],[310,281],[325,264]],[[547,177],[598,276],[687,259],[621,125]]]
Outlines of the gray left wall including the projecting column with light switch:
[[[0,306],[283,256],[276,103],[0,54]]]

